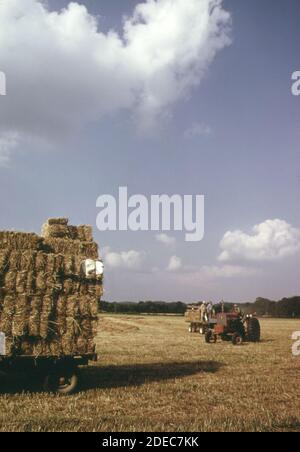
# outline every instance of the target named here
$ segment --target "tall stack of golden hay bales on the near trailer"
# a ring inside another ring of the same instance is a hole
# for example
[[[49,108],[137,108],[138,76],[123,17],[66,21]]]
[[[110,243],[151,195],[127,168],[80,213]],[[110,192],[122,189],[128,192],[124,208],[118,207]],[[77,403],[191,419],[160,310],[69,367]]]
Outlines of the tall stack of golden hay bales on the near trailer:
[[[7,355],[95,352],[102,277],[82,272],[98,259],[89,226],[51,219],[36,234],[0,232],[0,331]]]

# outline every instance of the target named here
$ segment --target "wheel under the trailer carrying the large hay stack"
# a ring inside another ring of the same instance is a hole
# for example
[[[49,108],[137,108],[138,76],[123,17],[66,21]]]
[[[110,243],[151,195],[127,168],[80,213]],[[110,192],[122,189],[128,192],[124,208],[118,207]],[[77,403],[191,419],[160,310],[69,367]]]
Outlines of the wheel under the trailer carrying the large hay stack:
[[[77,369],[64,369],[54,371],[47,375],[44,380],[44,389],[60,395],[74,394],[79,386]]]

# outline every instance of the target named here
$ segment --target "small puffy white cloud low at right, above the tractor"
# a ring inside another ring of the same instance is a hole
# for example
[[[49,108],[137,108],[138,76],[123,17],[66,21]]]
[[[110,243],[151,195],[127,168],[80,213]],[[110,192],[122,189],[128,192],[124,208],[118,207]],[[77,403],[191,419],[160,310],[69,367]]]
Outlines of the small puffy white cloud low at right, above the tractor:
[[[273,261],[300,252],[300,229],[284,220],[267,220],[254,226],[252,234],[228,231],[220,243],[220,261],[247,259]]]

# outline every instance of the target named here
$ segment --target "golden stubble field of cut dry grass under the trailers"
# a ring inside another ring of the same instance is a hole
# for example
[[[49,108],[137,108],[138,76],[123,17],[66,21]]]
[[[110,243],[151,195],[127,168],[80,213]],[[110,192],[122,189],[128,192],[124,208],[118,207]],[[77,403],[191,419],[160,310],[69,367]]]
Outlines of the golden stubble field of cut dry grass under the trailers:
[[[207,345],[181,317],[102,316],[82,392],[2,388],[0,430],[300,431],[294,331],[300,321],[263,320],[260,344]]]

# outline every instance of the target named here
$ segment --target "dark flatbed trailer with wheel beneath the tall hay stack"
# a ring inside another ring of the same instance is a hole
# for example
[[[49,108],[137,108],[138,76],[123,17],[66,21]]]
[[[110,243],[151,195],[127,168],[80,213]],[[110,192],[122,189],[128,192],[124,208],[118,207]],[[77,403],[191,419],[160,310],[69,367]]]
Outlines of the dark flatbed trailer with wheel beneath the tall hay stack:
[[[47,392],[70,395],[80,385],[79,367],[98,360],[97,354],[81,356],[0,356],[1,379],[24,375],[37,377]]]

